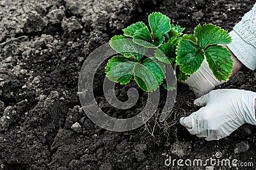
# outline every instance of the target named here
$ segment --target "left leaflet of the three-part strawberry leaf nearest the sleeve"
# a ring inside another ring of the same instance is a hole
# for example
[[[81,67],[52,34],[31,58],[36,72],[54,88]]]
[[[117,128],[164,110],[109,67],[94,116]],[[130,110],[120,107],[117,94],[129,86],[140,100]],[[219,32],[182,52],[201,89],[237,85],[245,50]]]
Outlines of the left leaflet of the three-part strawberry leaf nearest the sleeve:
[[[198,49],[193,42],[181,40],[177,47],[177,65],[186,74],[195,73],[204,61],[204,52]]]

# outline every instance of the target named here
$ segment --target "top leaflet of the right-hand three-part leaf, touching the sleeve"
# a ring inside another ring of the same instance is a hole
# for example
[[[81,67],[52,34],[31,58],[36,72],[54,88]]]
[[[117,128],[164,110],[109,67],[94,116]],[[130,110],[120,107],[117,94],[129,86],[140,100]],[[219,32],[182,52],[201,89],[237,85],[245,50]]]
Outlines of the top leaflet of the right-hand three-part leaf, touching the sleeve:
[[[195,36],[198,40],[198,45],[202,48],[208,45],[228,44],[232,41],[227,31],[212,24],[198,25],[195,28]]]

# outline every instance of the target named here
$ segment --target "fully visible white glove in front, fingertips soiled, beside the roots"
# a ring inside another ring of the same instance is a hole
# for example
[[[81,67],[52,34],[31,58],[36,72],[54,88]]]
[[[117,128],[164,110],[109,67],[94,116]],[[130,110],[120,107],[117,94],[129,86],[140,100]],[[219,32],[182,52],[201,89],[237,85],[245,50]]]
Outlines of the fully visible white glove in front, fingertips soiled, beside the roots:
[[[256,93],[242,89],[213,90],[194,102],[206,106],[180,118],[180,124],[207,141],[221,139],[244,123],[256,125],[255,98]]]

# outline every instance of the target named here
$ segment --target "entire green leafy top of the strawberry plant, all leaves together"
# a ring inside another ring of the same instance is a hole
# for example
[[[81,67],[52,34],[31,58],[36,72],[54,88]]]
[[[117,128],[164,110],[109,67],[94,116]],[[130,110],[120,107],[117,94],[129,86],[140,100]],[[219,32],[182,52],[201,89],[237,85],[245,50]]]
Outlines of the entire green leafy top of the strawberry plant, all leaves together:
[[[219,81],[232,73],[231,54],[222,46],[230,43],[231,37],[221,27],[198,24],[194,34],[188,35],[159,12],[148,16],[148,25],[136,22],[123,29],[124,35],[111,38],[109,44],[118,55],[106,66],[110,81],[127,84],[134,77],[141,89],[154,91],[166,78],[167,65],[172,65],[177,81],[182,82],[200,68],[204,59]],[[154,55],[148,55],[152,50]],[[164,88],[173,89],[167,84]]]

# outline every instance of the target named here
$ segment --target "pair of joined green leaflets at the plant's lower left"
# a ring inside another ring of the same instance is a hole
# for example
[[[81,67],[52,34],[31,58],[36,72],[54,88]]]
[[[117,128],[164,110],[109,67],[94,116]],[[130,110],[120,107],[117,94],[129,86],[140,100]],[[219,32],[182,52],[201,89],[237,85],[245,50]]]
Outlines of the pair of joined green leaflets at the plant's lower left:
[[[124,56],[115,56],[109,59],[105,69],[106,77],[120,84],[127,84],[134,74],[137,84],[147,92],[155,91],[165,78],[163,63],[156,63],[150,58],[140,64]]]

